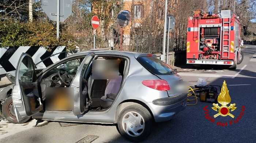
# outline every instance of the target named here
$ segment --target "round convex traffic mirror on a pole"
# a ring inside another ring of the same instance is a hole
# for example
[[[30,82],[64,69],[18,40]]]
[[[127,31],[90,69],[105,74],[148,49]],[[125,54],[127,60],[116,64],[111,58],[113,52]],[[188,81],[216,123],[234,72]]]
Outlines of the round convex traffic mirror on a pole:
[[[131,19],[131,12],[127,10],[120,11],[117,15],[117,23],[121,27],[125,27],[129,24],[129,21]]]

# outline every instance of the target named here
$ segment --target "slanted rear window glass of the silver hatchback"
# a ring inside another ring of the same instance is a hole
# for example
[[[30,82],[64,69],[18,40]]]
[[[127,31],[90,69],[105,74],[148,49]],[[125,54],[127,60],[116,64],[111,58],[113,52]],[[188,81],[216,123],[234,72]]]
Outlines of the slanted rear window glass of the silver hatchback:
[[[137,60],[148,71],[156,75],[172,75],[172,68],[155,57],[138,57]]]

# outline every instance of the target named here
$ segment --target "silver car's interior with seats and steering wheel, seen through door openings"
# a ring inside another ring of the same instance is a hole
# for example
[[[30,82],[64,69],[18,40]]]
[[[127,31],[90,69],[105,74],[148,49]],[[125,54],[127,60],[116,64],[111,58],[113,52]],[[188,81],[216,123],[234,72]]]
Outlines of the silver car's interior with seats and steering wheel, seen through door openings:
[[[86,96],[90,111],[104,111],[108,109],[116,98],[124,77],[126,60],[115,56],[98,56],[94,60],[117,60],[119,75],[115,79],[93,79],[92,63],[87,72],[83,73],[82,89]],[[41,80],[42,99],[45,111],[71,111],[73,99],[68,95],[67,88],[78,71],[83,59],[73,59],[53,68],[45,73]],[[49,90],[53,89],[53,90]],[[65,92],[64,92],[65,91]],[[72,101],[72,102],[70,102]]]

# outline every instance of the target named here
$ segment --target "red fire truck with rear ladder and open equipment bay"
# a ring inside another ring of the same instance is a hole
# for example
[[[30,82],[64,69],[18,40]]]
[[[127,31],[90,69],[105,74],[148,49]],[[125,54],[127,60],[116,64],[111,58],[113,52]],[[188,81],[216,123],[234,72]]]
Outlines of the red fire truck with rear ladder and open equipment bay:
[[[243,59],[240,20],[230,10],[221,14],[194,11],[188,17],[187,64],[229,65],[236,69]]]

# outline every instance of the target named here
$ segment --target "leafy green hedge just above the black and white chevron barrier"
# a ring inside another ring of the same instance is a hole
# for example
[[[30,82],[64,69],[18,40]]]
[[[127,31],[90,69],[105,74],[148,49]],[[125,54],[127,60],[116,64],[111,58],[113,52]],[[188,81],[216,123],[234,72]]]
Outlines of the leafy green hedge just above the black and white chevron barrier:
[[[66,31],[65,25],[61,29],[60,39],[56,38],[56,28],[48,21],[34,21],[22,23],[13,20],[0,22],[0,47],[10,46],[44,46],[48,50],[57,45],[75,48],[75,40],[71,33]]]

